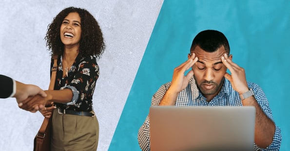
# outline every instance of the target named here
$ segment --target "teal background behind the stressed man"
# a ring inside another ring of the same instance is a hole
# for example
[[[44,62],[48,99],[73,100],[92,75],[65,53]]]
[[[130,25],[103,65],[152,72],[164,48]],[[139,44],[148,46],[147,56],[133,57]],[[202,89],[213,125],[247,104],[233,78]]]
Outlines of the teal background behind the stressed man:
[[[187,60],[193,37],[214,29],[226,35],[233,62],[259,84],[282,129],[280,151],[290,148],[290,1],[164,0],[109,151],[140,151],[139,127],[152,95]]]

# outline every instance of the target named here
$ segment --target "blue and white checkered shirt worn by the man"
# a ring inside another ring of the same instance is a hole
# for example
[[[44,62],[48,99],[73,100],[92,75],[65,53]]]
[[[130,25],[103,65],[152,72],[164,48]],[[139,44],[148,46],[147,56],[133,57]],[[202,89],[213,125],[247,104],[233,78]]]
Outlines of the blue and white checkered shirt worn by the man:
[[[152,97],[151,105],[159,105],[165,92],[168,90],[171,83],[162,85]],[[262,110],[273,121],[272,112],[269,107],[269,102],[263,90],[254,83],[248,82],[249,88],[254,92],[255,99],[261,106]],[[238,92],[233,90],[230,81],[225,79],[221,91],[212,101],[207,102],[206,98],[198,90],[195,80],[192,77],[187,87],[182,90],[177,97],[176,106],[242,106],[242,101]],[[150,122],[149,117],[146,117],[145,122],[138,131],[138,142],[142,151],[150,151]],[[254,151],[279,151],[282,135],[279,127],[275,125],[275,134],[270,146],[266,149],[259,148],[253,144]]]

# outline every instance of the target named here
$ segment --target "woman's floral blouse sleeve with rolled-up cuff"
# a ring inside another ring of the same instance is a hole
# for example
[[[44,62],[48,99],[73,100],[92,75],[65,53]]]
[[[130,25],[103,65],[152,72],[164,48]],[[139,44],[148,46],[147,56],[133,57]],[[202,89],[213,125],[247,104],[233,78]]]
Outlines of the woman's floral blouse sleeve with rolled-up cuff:
[[[73,92],[73,99],[67,105],[81,103],[85,98],[91,98],[99,76],[99,67],[96,57],[89,56],[80,61],[77,73],[69,85],[62,87],[69,88]]]

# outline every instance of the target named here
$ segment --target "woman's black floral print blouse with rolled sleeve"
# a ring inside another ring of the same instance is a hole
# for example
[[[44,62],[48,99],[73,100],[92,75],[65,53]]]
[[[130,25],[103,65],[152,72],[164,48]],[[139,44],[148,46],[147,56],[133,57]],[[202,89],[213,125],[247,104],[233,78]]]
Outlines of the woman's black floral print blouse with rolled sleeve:
[[[99,67],[96,56],[81,58],[77,56],[68,71],[68,76],[62,76],[62,56],[58,56],[58,69],[55,90],[69,88],[73,92],[73,99],[68,103],[56,103],[57,107],[74,111],[90,112],[93,108],[93,94],[99,76]],[[54,60],[51,59],[51,67]],[[50,72],[51,75],[51,72]]]

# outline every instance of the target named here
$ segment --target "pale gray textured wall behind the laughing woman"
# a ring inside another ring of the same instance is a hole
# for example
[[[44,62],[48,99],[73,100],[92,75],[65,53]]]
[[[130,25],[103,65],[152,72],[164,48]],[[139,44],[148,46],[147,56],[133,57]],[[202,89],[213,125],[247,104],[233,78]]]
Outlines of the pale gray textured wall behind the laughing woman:
[[[107,44],[98,61],[94,109],[100,125],[98,151],[107,151],[163,0],[4,0],[0,2],[0,74],[47,89],[50,55],[47,25],[62,9],[87,9]],[[0,151],[32,151],[43,117],[0,100]]]

